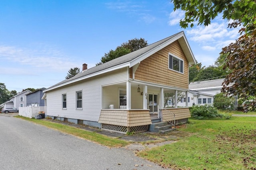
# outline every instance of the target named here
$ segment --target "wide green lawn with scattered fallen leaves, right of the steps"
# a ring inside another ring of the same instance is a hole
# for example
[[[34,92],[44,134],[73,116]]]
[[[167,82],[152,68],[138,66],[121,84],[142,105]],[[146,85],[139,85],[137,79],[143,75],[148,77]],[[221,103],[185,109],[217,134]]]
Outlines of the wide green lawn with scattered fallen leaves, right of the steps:
[[[169,135],[178,141],[138,155],[176,170],[256,169],[256,117],[190,119]]]

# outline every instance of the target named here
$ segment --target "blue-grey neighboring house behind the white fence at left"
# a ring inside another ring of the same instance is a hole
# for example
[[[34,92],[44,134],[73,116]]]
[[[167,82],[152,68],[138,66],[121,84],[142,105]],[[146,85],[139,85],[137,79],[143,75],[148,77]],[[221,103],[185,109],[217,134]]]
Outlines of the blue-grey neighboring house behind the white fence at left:
[[[34,92],[26,94],[27,96],[27,105],[26,106],[44,106],[44,100],[42,100],[43,90],[46,88],[40,88]]]

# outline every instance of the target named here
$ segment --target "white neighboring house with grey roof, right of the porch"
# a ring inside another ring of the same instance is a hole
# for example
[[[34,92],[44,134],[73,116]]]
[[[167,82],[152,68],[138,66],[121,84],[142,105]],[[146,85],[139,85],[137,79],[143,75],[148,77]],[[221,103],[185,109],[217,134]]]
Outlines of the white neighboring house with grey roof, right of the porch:
[[[222,83],[225,78],[215,79],[215,80],[205,80],[198,82],[191,82],[188,86],[188,106],[191,107],[193,104],[213,104],[214,96],[220,93],[222,89]],[[235,103],[234,108],[238,106],[237,96],[234,96]],[[178,106],[184,107],[184,98],[181,99]]]

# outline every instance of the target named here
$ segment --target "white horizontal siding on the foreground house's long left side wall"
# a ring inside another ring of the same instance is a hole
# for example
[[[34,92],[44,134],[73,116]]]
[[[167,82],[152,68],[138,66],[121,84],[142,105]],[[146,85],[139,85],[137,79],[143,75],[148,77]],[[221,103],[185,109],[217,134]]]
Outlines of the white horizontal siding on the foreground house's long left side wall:
[[[96,121],[102,108],[102,86],[127,80],[127,69],[102,74],[47,92],[47,115]],[[82,91],[82,109],[76,109],[76,92]],[[66,109],[62,109],[62,94],[66,94]],[[112,95],[112,94],[110,94]]]

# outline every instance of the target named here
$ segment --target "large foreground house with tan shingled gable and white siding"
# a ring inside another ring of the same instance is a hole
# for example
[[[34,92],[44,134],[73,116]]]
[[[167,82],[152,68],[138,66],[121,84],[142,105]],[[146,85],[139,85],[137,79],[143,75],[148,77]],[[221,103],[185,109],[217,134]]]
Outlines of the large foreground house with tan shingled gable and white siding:
[[[83,64],[81,73],[43,91],[47,115],[119,133],[148,131],[153,121],[186,122],[188,107],[164,108],[164,93],[174,92],[175,103],[178,92],[188,94],[195,63],[182,31],[93,68]]]

